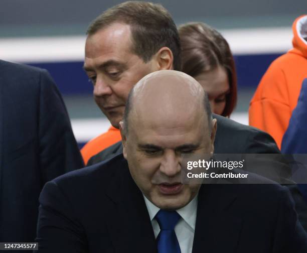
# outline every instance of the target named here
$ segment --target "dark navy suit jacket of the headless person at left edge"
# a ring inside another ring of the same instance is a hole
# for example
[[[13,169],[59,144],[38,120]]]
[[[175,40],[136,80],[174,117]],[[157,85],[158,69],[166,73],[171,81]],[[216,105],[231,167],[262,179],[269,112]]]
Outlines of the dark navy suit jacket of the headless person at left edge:
[[[44,184],[82,165],[48,72],[0,61],[0,241],[34,241]]]

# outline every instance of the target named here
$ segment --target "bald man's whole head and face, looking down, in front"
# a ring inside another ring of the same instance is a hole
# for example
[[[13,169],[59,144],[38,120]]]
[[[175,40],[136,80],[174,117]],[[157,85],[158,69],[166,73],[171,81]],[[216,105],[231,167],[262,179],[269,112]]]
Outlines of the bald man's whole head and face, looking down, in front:
[[[174,70],[146,75],[130,91],[120,128],[123,156],[144,196],[161,209],[187,205],[200,184],[181,183],[182,155],[214,152],[216,119],[201,85]]]

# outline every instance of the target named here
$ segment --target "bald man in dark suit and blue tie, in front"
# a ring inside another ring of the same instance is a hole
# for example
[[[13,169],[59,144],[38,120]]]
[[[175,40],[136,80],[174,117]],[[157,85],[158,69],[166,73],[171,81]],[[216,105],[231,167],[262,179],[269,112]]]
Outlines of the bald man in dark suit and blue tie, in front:
[[[287,188],[252,174],[266,184],[181,183],[181,155],[212,155],[217,129],[191,76],[143,77],[120,129],[123,155],[45,185],[40,252],[306,252]]]

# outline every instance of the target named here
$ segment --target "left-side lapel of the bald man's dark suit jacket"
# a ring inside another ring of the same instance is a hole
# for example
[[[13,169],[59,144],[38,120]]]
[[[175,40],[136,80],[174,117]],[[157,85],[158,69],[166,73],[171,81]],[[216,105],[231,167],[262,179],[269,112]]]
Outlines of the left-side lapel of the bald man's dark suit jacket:
[[[124,160],[124,159],[122,159]],[[157,252],[157,244],[143,195],[134,183],[126,161],[121,164],[120,186],[110,184],[108,196],[116,204],[111,240],[116,252]],[[114,222],[115,220],[115,222]]]

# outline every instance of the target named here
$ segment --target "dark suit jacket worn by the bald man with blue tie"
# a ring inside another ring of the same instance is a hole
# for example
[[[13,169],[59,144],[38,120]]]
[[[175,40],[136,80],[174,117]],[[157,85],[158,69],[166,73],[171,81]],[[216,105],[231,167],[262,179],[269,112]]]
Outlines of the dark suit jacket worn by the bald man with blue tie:
[[[40,203],[39,252],[157,252],[142,193],[122,155],[48,182]],[[285,187],[202,185],[198,252],[307,252],[307,237]]]

